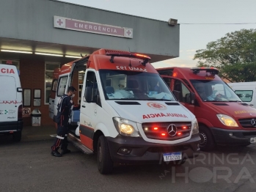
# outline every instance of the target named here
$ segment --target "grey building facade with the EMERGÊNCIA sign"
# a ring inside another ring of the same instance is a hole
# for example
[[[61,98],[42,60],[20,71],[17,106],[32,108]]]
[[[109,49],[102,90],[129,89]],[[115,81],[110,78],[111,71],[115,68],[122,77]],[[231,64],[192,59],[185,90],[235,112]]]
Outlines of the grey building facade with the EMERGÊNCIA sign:
[[[25,125],[34,109],[42,114],[41,125],[52,125],[48,102],[54,69],[81,55],[107,48],[145,53],[150,62],[179,56],[180,27],[167,21],[54,0],[0,0],[0,21],[0,63],[20,70]],[[83,74],[75,79],[79,90]]]

